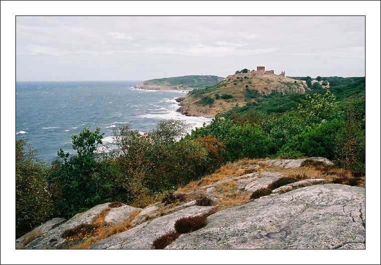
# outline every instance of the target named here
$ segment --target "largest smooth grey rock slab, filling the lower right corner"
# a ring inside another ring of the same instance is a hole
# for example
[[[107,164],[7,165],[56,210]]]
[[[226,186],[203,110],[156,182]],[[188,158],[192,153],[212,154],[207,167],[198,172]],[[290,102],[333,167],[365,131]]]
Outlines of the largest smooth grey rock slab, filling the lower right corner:
[[[222,210],[167,247],[343,248],[365,248],[365,189],[341,184],[313,185]]]

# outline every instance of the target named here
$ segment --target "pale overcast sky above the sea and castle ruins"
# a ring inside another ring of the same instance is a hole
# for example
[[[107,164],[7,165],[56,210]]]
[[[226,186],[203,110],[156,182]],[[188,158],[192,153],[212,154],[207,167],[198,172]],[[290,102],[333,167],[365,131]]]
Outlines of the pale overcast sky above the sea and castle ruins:
[[[17,16],[16,80],[365,76],[365,16]]]

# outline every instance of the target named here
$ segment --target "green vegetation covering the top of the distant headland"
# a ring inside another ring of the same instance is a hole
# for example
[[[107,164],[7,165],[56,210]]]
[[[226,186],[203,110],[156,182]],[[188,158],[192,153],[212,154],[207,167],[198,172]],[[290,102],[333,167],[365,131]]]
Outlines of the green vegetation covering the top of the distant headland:
[[[214,85],[221,81],[223,77],[215,75],[186,75],[178,77],[168,77],[151,79],[143,82],[143,85],[163,85],[172,86],[174,88],[201,88]]]

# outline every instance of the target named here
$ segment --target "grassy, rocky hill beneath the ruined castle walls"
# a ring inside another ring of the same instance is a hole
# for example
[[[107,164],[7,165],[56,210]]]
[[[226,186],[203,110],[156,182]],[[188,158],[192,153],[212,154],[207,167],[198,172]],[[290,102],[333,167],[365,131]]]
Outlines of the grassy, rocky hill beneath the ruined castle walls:
[[[179,111],[189,116],[213,117],[234,107],[257,105],[259,98],[272,94],[304,94],[310,90],[305,81],[282,75],[244,75],[234,79],[229,77],[213,86],[193,90],[187,96],[177,99],[181,106]]]

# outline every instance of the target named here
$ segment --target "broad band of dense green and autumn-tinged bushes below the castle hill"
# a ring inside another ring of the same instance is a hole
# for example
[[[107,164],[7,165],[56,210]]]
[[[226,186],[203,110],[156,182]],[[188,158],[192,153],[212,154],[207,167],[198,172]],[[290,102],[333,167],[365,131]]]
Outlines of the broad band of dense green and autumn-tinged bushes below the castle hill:
[[[147,206],[246,157],[323,156],[365,170],[365,78],[338,78],[329,90],[307,94],[246,91],[260,104],[217,115],[191,134],[178,120],[162,120],[144,135],[128,124],[115,128],[118,149],[111,152],[97,151],[103,136],[99,128],[85,127],[72,136],[78,155],[60,149],[61,160],[50,166],[33,158],[25,140],[16,140],[16,238],[53,217],[70,218],[100,203]]]

